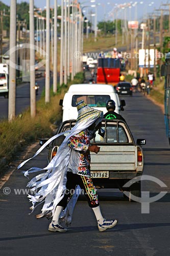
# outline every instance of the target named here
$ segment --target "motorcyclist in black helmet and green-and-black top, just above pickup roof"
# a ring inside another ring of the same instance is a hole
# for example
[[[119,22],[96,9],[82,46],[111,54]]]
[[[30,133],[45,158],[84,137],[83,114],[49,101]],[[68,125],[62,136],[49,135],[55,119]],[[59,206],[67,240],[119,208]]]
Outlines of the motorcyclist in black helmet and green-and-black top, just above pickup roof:
[[[110,120],[121,119],[121,120],[125,121],[125,119],[121,115],[119,115],[116,112],[114,112],[115,108],[116,108],[116,106],[115,106],[114,100],[109,99],[106,102],[106,109],[107,109],[108,112],[106,114],[104,114],[103,118],[110,119]]]

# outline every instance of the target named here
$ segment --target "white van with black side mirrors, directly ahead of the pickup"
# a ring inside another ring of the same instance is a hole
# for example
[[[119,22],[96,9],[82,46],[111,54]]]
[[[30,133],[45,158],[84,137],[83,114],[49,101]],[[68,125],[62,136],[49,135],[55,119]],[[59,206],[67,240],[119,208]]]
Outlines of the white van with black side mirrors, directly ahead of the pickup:
[[[119,100],[117,93],[113,86],[108,84],[72,84],[67,93],[64,95],[64,99],[60,100],[60,105],[63,106],[63,120],[77,119],[78,112],[76,108],[76,102],[83,99],[91,108],[103,111],[105,114],[106,101],[109,99],[114,100],[116,103],[115,112],[120,113],[125,106],[124,100]]]

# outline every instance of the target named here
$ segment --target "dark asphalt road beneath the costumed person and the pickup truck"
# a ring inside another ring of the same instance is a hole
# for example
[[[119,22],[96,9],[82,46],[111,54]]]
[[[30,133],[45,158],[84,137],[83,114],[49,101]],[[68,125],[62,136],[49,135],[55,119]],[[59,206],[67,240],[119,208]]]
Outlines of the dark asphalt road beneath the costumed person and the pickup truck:
[[[39,146],[23,150],[21,155],[8,166],[6,181],[0,190],[0,255],[120,255],[120,256],[168,256],[170,254],[170,148],[165,136],[164,116],[158,106],[141,93],[126,100],[126,118],[135,140],[144,138],[143,175],[160,179],[167,187],[160,187],[153,181],[142,181],[142,191],[150,191],[154,197],[160,191],[167,194],[159,201],[149,204],[149,214],[141,214],[140,203],[129,203],[117,189],[98,191],[100,205],[106,218],[117,218],[118,224],[106,232],[99,232],[92,210],[84,198],[78,201],[72,224],[66,233],[47,231],[49,220],[35,219],[40,207],[29,215],[29,200],[26,184],[28,179],[16,170],[23,156],[32,156]],[[34,145],[35,146],[35,145]],[[46,150],[31,160],[22,170],[31,166],[46,165]],[[1,184],[3,185],[3,179]],[[9,188],[9,189],[8,189]],[[14,190],[15,189],[15,190]],[[23,190],[17,190],[23,189]],[[18,192],[17,192],[18,191]],[[9,194],[8,194],[9,193]],[[18,195],[18,194],[20,195]]]

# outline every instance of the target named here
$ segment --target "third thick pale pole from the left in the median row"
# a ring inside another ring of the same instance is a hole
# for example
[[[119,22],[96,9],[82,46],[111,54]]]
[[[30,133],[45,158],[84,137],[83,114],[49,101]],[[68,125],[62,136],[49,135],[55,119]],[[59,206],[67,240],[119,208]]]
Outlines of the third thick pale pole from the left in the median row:
[[[46,0],[45,103],[50,102],[50,0]]]

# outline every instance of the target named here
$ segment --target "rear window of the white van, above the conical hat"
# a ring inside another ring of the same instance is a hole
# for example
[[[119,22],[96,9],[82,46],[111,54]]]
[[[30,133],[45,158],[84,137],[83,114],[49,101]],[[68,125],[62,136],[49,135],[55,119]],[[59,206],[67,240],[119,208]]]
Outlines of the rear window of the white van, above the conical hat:
[[[106,108],[106,101],[110,95],[73,95],[71,106],[76,106],[76,102],[83,99],[91,107]]]

